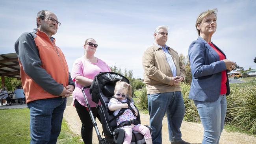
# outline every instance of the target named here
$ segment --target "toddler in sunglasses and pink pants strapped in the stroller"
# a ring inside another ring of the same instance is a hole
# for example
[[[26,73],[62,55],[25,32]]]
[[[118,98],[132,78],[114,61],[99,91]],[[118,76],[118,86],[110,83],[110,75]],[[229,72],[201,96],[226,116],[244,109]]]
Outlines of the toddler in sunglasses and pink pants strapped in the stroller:
[[[138,111],[131,103],[131,95],[131,85],[124,81],[118,81],[115,85],[114,98],[111,98],[108,103],[108,109],[115,111],[113,114],[117,120],[117,126],[125,131],[123,144],[131,143],[132,130],[143,134],[146,144],[152,144],[150,130],[136,120]]]

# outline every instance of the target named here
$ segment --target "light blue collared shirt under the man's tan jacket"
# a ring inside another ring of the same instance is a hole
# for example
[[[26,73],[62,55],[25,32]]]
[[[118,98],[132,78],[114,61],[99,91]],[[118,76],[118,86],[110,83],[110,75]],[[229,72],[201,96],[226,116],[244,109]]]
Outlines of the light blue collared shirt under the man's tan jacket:
[[[176,69],[176,66],[174,64],[172,55],[168,52],[168,47],[169,46],[167,46],[165,44],[165,47],[162,47],[162,46],[158,45],[156,42],[155,42],[155,44],[156,44],[156,46],[159,46],[160,48],[162,48],[163,52],[165,53],[166,60],[169,63],[169,66],[170,66],[171,71],[173,73],[173,77],[175,77],[177,75],[177,69]]]

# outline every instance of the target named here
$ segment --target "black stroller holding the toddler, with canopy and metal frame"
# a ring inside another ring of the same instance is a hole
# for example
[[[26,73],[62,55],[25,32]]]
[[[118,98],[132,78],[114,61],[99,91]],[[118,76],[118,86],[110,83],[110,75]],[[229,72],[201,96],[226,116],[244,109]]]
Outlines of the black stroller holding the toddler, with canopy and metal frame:
[[[103,72],[95,76],[91,86],[83,87],[82,89],[85,102],[87,103],[87,110],[89,111],[89,114],[91,116],[91,120],[93,122],[99,144],[122,144],[125,138],[124,129],[117,128],[117,122],[114,118],[115,116],[113,115],[113,111],[109,111],[108,109],[109,100],[114,95],[115,83],[120,80],[130,83],[129,80],[121,74],[115,72]],[[97,105],[96,109],[98,109],[98,113],[100,115],[103,128],[102,133],[104,134],[104,138],[102,138],[100,135],[97,124],[95,122],[95,118],[93,117],[93,113],[91,112],[91,107],[85,97],[84,89],[88,88],[90,88],[90,94],[92,96],[93,102],[101,102],[101,105]],[[134,102],[133,100],[131,101]],[[114,120],[112,120],[113,118]],[[140,123],[139,111],[137,121]],[[151,127],[147,127],[149,128],[150,133],[152,133]],[[131,144],[145,144],[143,135],[137,131],[133,131]]]

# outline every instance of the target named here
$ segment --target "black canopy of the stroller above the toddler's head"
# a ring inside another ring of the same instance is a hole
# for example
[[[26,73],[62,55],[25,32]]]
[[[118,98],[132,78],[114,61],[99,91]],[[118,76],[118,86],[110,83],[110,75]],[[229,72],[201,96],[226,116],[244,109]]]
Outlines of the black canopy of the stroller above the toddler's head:
[[[101,91],[105,96],[113,96],[115,83],[117,81],[124,81],[130,84],[127,78],[115,72],[102,72],[96,75],[90,87],[90,94],[93,102],[99,102]]]

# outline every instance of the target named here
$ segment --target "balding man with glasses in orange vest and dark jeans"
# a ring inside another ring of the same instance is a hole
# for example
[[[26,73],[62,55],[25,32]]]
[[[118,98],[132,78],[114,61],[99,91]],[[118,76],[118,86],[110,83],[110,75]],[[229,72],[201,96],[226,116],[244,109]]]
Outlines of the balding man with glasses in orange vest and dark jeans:
[[[15,42],[20,77],[30,109],[30,144],[56,144],[67,97],[74,82],[63,52],[52,35],[60,22],[54,13],[37,13],[37,29],[23,33]]]

